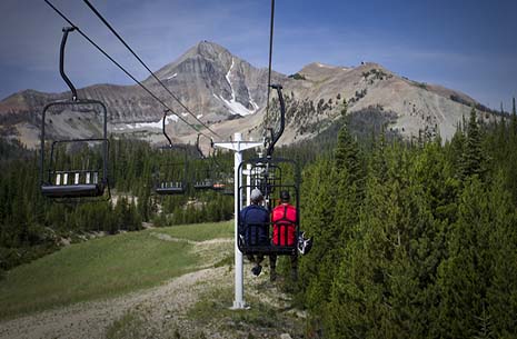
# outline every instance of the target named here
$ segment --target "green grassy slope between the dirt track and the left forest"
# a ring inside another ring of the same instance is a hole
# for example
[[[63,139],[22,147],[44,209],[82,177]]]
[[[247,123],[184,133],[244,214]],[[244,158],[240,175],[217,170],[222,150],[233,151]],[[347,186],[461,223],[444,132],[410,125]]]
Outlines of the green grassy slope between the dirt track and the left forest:
[[[77,243],[11,270],[0,281],[0,319],[109,298],[159,285],[197,269],[192,245],[161,240],[152,233],[188,240],[230,238],[231,222],[130,232]]]

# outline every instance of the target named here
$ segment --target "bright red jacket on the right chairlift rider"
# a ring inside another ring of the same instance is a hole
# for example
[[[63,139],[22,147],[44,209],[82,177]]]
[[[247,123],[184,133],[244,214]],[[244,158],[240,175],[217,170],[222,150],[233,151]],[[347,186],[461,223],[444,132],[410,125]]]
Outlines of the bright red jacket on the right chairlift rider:
[[[294,246],[296,235],[296,208],[289,203],[277,206],[272,210],[271,221],[272,243],[276,246]]]

